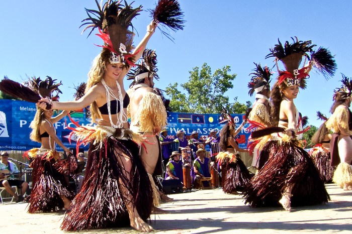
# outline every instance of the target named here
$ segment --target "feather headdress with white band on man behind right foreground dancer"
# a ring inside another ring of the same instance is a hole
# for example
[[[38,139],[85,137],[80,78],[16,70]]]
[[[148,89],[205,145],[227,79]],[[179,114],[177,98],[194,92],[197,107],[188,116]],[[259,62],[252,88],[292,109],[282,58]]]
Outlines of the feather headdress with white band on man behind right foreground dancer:
[[[270,77],[272,75],[272,72],[269,67],[261,67],[260,63],[255,65],[255,69],[253,69],[254,72],[250,73],[249,75],[252,75],[252,78],[250,79],[250,82],[248,83],[248,94],[250,96],[253,95],[254,92],[260,92],[263,89],[270,89]]]

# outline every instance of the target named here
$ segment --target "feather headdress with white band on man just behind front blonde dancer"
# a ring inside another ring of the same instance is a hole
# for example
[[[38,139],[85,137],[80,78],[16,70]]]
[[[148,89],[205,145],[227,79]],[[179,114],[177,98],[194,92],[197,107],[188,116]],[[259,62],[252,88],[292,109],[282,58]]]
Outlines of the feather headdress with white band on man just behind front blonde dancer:
[[[127,74],[127,79],[133,79],[137,82],[138,80],[146,77],[154,77],[159,80],[159,76],[156,73],[158,71],[156,63],[157,60],[155,50],[145,49],[143,51],[141,64],[136,64],[136,68],[130,70]]]

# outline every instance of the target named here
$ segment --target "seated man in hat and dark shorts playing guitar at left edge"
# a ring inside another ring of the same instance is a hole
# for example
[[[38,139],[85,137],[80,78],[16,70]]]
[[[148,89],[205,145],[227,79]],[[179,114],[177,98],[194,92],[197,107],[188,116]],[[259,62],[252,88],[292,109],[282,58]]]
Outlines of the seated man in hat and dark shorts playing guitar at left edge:
[[[21,194],[25,194],[28,183],[23,180],[16,180],[14,175],[7,176],[6,174],[17,174],[19,170],[15,163],[8,160],[9,154],[8,152],[1,153],[1,162],[0,162],[0,186],[5,187],[6,191],[8,191],[12,196],[16,198],[16,203],[23,200],[22,195],[17,195],[13,190],[12,186],[17,186],[21,188]]]

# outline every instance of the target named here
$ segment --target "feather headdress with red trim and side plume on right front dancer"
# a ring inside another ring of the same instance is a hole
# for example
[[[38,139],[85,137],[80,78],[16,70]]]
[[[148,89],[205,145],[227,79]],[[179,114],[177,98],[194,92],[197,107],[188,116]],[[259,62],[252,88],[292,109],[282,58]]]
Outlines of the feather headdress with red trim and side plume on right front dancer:
[[[286,41],[285,45],[278,40],[279,44],[270,49],[271,53],[266,56],[266,58],[275,57],[279,72],[279,85],[283,83],[286,86],[298,85],[304,89],[312,67],[322,73],[326,79],[333,76],[336,63],[329,50],[319,47],[317,51],[314,51],[313,48],[316,45],[312,45],[311,41],[298,41],[297,37],[292,40],[293,43]],[[303,57],[303,67],[299,68]],[[286,70],[279,69],[279,60],[284,64]],[[310,61],[308,64],[306,64],[307,60]]]

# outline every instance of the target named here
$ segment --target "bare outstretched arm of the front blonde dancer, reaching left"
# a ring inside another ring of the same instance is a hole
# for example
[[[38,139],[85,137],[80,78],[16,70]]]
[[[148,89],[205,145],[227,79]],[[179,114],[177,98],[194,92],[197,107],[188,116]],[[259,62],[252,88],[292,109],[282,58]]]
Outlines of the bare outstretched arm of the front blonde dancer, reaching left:
[[[50,101],[48,98],[42,98],[37,102],[37,106],[46,109],[46,103],[52,104],[51,109],[62,109],[62,110],[77,110],[82,109],[85,106],[92,104],[97,98],[101,97],[99,87],[94,85],[84,96],[76,101]]]

